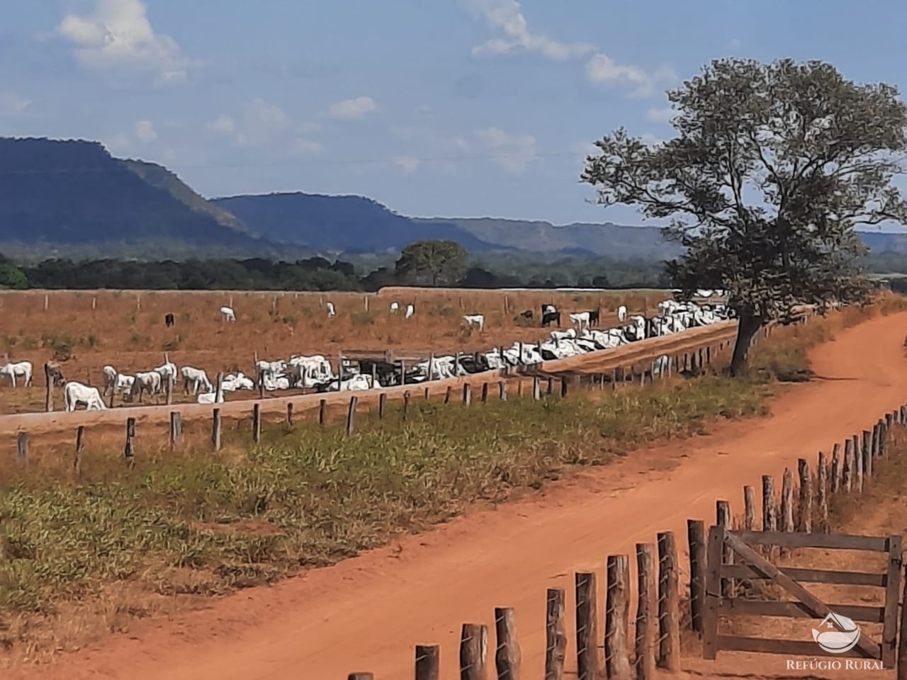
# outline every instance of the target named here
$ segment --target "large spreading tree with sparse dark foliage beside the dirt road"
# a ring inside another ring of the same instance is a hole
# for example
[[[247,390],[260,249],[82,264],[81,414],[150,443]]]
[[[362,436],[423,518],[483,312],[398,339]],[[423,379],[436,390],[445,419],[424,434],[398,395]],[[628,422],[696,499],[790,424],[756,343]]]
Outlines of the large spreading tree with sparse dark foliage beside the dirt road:
[[[797,304],[824,312],[870,287],[853,228],[907,216],[892,178],[907,151],[895,87],[848,81],[828,63],[716,60],[668,92],[676,136],[645,144],[620,128],[596,141],[580,180],[600,204],[670,218],[686,247],[674,285],[724,288],[739,316],[732,374],[756,331]]]

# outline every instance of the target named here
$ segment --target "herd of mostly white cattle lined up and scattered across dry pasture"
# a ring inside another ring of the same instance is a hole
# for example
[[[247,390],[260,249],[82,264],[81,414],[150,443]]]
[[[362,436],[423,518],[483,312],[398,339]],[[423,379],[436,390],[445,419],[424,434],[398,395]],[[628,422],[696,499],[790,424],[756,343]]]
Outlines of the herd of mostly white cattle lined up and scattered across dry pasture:
[[[708,296],[721,294],[721,291],[705,292],[709,294]],[[336,315],[333,304],[327,303],[326,307],[328,316]],[[393,303],[391,312],[395,313],[398,310],[399,305]],[[224,320],[236,320],[234,311],[229,307],[222,307],[220,313]],[[408,318],[413,314],[414,306],[406,306],[405,316]],[[167,316],[166,323],[172,325],[173,316]],[[520,316],[532,319],[532,310],[526,310]],[[517,342],[509,348],[496,347],[491,351],[474,355],[432,356],[427,361],[410,366],[374,359],[362,359],[354,364],[348,359],[343,359],[342,365],[337,366],[336,373],[325,356],[293,355],[287,361],[258,361],[255,366],[256,380],[241,373],[227,374],[222,377],[219,390],[211,383],[210,377],[203,369],[194,366],[177,369],[177,366],[169,361],[135,374],[122,374],[112,365],[105,365],[102,390],[75,381],[66,381],[59,364],[49,364],[49,377],[54,384],[63,386],[66,411],[73,411],[78,404],[84,404],[88,410],[102,410],[107,408],[104,397],[114,395],[121,395],[126,403],[134,403],[136,400],[141,403],[145,395],[151,397],[166,390],[172,391],[180,379],[183,392],[195,395],[198,403],[221,403],[226,392],[256,388],[269,392],[301,388],[318,393],[368,390],[376,385],[390,387],[398,384],[416,384],[505,366],[541,364],[544,361],[612,349],[648,337],[682,333],[689,328],[715,324],[733,316],[732,311],[724,304],[698,305],[694,302],[665,300],[658,303],[658,315],[649,318],[641,315],[628,316],[627,308],[620,306],[618,309],[620,325],[599,330],[596,327],[600,324],[598,310],[573,312],[568,317],[571,325],[576,327],[552,330],[549,338],[539,341],[536,345]],[[463,321],[467,325],[477,326],[480,331],[484,328],[483,315],[465,315]],[[549,326],[552,323],[561,325],[561,312],[553,305],[541,306],[541,325]],[[663,369],[663,359],[664,357],[660,357],[652,365],[654,374],[660,373]],[[14,387],[19,381],[25,385],[31,384],[32,376],[33,365],[27,361],[0,366],[0,378],[7,378]]]

